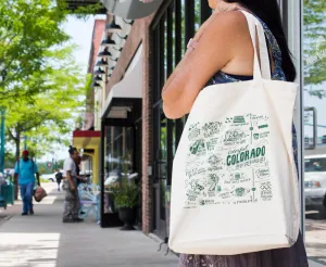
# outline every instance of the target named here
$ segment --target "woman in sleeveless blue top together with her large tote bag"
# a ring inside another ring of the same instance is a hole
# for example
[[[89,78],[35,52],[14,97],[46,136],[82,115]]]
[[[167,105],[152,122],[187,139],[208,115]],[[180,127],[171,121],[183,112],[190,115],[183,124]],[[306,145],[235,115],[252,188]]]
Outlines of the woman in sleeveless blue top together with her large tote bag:
[[[189,114],[173,166],[170,246],[179,267],[303,267],[298,86],[276,0],[214,9],[163,91]]]

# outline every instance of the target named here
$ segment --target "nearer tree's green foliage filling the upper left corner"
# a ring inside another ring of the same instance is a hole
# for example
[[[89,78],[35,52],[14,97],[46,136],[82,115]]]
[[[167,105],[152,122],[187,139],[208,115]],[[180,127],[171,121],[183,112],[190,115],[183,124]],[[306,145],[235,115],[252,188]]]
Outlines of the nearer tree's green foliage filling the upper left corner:
[[[34,82],[36,76],[39,80],[52,72],[48,63],[58,53],[49,51],[70,39],[61,27],[66,15],[52,0],[0,1],[1,102],[43,89],[22,84]]]

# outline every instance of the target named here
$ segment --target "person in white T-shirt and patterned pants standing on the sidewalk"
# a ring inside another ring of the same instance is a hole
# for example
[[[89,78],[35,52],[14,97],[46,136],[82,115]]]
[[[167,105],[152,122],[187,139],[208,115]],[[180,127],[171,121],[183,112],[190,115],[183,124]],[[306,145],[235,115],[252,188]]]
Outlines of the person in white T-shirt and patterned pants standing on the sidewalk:
[[[63,167],[63,189],[65,190],[63,223],[79,223],[78,218],[79,198],[76,179],[75,160],[78,156],[76,148],[70,147],[70,156],[64,161]]]

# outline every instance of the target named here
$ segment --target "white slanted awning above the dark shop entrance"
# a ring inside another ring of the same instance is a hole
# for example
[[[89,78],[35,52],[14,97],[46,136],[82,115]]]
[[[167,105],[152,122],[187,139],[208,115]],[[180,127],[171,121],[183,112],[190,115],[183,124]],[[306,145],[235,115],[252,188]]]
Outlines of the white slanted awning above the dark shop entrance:
[[[138,48],[125,77],[111,88],[101,112],[102,118],[127,118],[142,98],[142,44]]]

